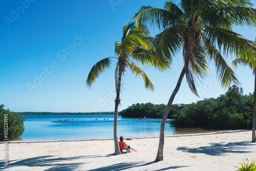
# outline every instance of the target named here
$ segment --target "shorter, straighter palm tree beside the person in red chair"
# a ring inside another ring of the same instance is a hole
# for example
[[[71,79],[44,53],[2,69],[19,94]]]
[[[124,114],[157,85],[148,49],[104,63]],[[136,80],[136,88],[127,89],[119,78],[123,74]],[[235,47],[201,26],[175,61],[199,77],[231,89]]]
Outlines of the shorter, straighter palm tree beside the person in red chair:
[[[136,65],[131,59],[139,62],[144,66],[154,66],[154,53],[155,48],[152,42],[152,37],[146,30],[145,26],[136,28],[135,23],[125,24],[123,26],[123,36],[121,41],[115,42],[115,54],[118,57],[107,57],[97,62],[91,69],[86,84],[91,88],[95,79],[103,73],[106,69],[111,67],[112,58],[117,59],[115,68],[115,87],[116,87],[116,99],[115,99],[115,113],[114,113],[114,143],[115,143],[115,155],[121,154],[118,145],[117,138],[117,115],[118,105],[120,104],[120,90],[122,87],[122,76],[125,69],[130,68],[132,73],[136,76],[142,76],[145,83],[145,88],[153,91],[154,86],[151,80],[147,77],[144,71]],[[159,69],[165,70],[164,65],[159,65]]]

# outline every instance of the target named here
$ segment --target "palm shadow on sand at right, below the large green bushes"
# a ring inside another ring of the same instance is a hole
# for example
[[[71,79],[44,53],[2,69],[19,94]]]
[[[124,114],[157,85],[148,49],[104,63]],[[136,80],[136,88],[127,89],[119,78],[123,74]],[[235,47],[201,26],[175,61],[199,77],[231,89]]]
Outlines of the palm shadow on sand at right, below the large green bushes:
[[[225,153],[250,153],[245,151],[248,145],[256,145],[250,141],[244,142],[230,142],[223,143],[210,143],[210,146],[201,146],[199,148],[179,147],[177,150],[181,150],[187,153],[204,153],[210,156],[222,156]]]

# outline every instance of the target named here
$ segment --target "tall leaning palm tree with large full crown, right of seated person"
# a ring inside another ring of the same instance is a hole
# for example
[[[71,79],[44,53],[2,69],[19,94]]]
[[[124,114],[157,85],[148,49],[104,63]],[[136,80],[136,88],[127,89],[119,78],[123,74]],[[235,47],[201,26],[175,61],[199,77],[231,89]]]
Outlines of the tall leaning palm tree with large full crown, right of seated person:
[[[256,10],[252,6],[247,0],[181,0],[179,5],[167,1],[163,9],[143,6],[133,16],[138,27],[157,26],[161,31],[155,38],[158,60],[172,63],[173,56],[183,49],[184,67],[163,115],[156,161],[163,160],[164,126],[184,75],[189,89],[199,96],[195,77],[205,78],[208,60],[212,60],[223,88],[240,84],[222,53],[250,56],[247,50],[252,49],[253,42],[233,32],[232,27],[255,26]]]

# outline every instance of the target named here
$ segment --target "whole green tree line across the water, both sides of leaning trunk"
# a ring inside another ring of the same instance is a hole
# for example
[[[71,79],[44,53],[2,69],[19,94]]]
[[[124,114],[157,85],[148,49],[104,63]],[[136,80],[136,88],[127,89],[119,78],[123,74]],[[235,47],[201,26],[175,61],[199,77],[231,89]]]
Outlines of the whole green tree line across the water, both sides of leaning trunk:
[[[173,104],[168,118],[180,127],[204,127],[214,130],[251,129],[254,93],[232,86],[218,98],[205,98],[190,104]],[[122,117],[162,118],[165,104],[136,103],[119,112]]]

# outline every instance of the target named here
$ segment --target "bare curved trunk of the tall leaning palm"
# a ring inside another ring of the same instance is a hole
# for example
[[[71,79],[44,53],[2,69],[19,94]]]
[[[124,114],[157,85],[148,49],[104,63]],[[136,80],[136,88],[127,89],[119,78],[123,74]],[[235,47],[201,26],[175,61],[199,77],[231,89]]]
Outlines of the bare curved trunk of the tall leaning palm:
[[[159,145],[158,145],[158,151],[157,151],[157,157],[155,161],[162,161],[163,160],[163,146],[164,146],[164,126],[166,123],[166,119],[168,116],[168,113],[170,111],[170,106],[172,105],[174,98],[176,96],[176,94],[178,93],[179,89],[180,89],[180,85],[181,85],[181,81],[183,79],[185,75],[185,67],[182,69],[179,80],[177,82],[176,88],[173,91],[172,96],[170,96],[170,99],[166,105],[164,114],[163,114],[163,119],[162,119],[162,123],[161,123],[161,128],[160,128],[160,138],[159,138]]]

